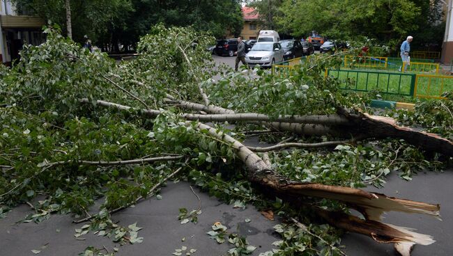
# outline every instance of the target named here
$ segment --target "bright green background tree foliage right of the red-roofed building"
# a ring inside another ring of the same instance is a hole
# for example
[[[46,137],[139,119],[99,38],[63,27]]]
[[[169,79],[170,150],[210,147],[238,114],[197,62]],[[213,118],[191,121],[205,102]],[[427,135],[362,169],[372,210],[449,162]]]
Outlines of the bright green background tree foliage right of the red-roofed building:
[[[265,0],[261,1],[265,2]],[[279,29],[295,36],[315,30],[328,38],[376,38],[390,46],[413,35],[413,47],[441,45],[442,5],[429,0],[284,0],[275,17]]]

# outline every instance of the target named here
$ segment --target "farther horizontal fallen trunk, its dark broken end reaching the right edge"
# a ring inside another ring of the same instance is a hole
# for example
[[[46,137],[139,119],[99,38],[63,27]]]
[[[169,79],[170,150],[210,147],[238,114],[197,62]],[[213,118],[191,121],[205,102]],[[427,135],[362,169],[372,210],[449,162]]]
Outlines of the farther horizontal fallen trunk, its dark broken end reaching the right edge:
[[[81,102],[84,103],[91,103],[89,99],[81,99]],[[93,102],[100,106],[107,106],[113,107],[120,110],[130,110],[132,109],[130,106],[123,106],[121,104],[116,104],[113,102],[105,102],[103,100],[96,100]],[[136,109],[137,111],[141,111],[145,115],[150,117],[156,117],[162,113],[162,111],[152,110],[152,109]],[[247,121],[247,118],[252,119],[251,122],[263,122],[266,123],[266,120],[272,120],[267,115],[261,115],[258,113],[245,113],[236,114],[236,120],[243,120]],[[242,117],[241,117],[242,115]],[[343,117],[341,116],[343,115]],[[207,117],[206,117],[207,116]],[[213,118],[215,116],[215,118]],[[195,114],[187,114],[182,113],[179,115],[180,118],[186,120],[196,120],[202,122],[211,122],[211,121],[227,121],[231,120],[232,114],[228,115],[195,115]],[[222,118],[223,117],[223,118]],[[247,117],[247,118],[246,118]],[[348,122],[345,122],[345,118]],[[366,115],[363,113],[359,114],[350,114],[344,110],[339,110],[338,115],[294,115],[294,116],[279,116],[275,118],[281,122],[271,122],[272,124],[278,125],[287,125],[291,127],[293,123],[300,125],[303,123],[303,128],[305,126],[309,128],[310,126],[312,129],[317,129],[316,125],[321,124],[321,120],[325,121],[326,123],[332,125],[321,125],[319,129],[321,129],[321,134],[325,131],[332,131],[330,133],[335,134],[342,134],[343,136],[348,135],[356,135],[360,136],[361,138],[402,138],[406,142],[420,147],[424,150],[428,150],[431,152],[438,152],[441,154],[445,154],[447,157],[453,157],[453,142],[449,141],[445,138],[442,138],[436,134],[429,134],[424,131],[415,131],[408,127],[399,127],[396,125],[396,122],[392,118],[384,118],[376,115]],[[292,120],[291,122],[287,122]],[[312,122],[315,122],[314,124]],[[272,125],[273,126],[273,125]],[[324,128],[325,127],[325,128]]]

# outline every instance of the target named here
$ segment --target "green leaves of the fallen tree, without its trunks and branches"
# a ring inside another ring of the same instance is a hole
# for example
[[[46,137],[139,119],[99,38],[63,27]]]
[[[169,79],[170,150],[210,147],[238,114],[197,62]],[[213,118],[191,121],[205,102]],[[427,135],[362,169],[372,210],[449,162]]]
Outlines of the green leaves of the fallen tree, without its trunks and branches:
[[[10,207],[33,202],[38,195],[44,195],[45,200],[35,203],[36,212],[25,222],[40,222],[52,213],[85,216],[93,210],[95,200],[104,198],[91,223],[78,228],[76,236],[94,232],[118,243],[140,243],[139,227],[116,225],[109,211],[135,204],[137,198],[148,196],[154,186],[179,168],[181,172],[175,178],[192,182],[233,207],[243,208],[251,202],[259,209],[272,209],[279,216],[300,216],[303,223],[314,221],[308,209],[293,209],[278,198],[265,199],[247,180],[247,170],[231,145],[212,138],[207,131],[199,131],[197,122],[178,118],[180,110],[164,102],[167,94],[201,102],[201,86],[213,104],[271,116],[335,113],[339,107],[358,109],[368,100],[367,95],[340,90],[338,79],[324,77],[326,67],[341,62],[339,54],[314,56],[297,66],[291,77],[284,78],[263,70],[237,73],[221,67],[222,72],[213,71],[212,60],[205,51],[212,38],[192,27],[154,26],[139,43],[141,55],[118,64],[105,54],[90,54],[54,29],[45,32],[45,44],[26,47],[20,62],[10,69],[0,66],[0,218]],[[222,77],[213,80],[216,74]],[[81,98],[88,98],[89,102],[104,99],[141,109],[146,104],[162,109],[162,114],[148,118],[137,110],[105,109],[82,103]],[[417,106],[411,118],[404,121],[450,136],[450,102]],[[438,115],[431,115],[433,111]],[[239,140],[244,138],[243,131],[252,127],[236,124],[230,130],[222,124],[214,126]],[[277,134],[270,140],[280,141],[282,136],[287,135]],[[338,138],[321,138],[335,139]],[[118,166],[82,162],[167,154],[181,155],[183,159]],[[279,174],[291,179],[351,187],[369,183],[380,186],[385,175],[394,170],[410,179],[418,170],[443,166],[436,156],[427,156],[395,140],[276,152],[270,154],[270,159]],[[311,202],[325,209],[347,211],[339,202]],[[197,210],[181,209],[179,218],[184,223],[196,223],[198,214]],[[278,244],[275,255],[337,253],[332,248],[339,239],[337,230],[317,224],[309,230],[318,237],[298,227],[279,227],[277,232],[284,241]],[[253,247],[243,237],[227,234],[226,227],[217,225],[212,231],[217,242],[229,239],[235,246],[231,255],[252,253]],[[89,255],[99,253],[95,248],[87,251]]]

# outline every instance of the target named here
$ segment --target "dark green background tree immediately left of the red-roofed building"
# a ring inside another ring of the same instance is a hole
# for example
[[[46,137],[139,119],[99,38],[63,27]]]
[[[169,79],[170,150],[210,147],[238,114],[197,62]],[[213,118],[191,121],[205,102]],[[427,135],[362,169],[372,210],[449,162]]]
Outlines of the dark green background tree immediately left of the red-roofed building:
[[[222,38],[227,31],[238,35],[243,16],[238,0],[132,0],[133,11],[118,17],[109,34],[124,45],[135,45],[151,26],[193,26]],[[121,20],[121,22],[120,22]],[[122,25],[121,25],[122,24]]]

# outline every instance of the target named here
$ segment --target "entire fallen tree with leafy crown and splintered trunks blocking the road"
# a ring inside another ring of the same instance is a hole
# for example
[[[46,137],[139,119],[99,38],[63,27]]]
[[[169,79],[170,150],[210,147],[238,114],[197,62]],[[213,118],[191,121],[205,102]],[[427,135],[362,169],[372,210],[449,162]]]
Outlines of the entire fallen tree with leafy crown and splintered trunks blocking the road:
[[[1,205],[11,207],[43,194],[47,200],[35,209],[83,216],[95,199],[105,197],[98,214],[81,221],[114,232],[120,227],[113,225],[110,213],[153,195],[160,184],[179,175],[222,200],[272,208],[277,197],[287,205],[276,209],[306,214],[290,219],[306,222],[314,214],[341,229],[395,243],[401,252],[415,243],[433,243],[428,235],[382,223],[380,216],[402,211],[438,217],[438,205],[358,187],[381,184],[390,170],[401,168],[404,174],[443,166],[436,156],[452,157],[450,131],[443,138],[361,113],[367,99],[320,76],[324,65],[330,65],[322,59],[306,63],[291,79],[257,70],[257,77],[229,73],[216,82],[204,47],[185,47],[202,36],[190,29],[156,26],[139,45],[141,56],[121,65],[80,49],[51,29],[46,32],[45,44],[26,47],[12,69],[0,68]],[[162,49],[161,54],[155,49]],[[225,128],[231,122],[233,131]],[[247,147],[241,140],[251,129],[278,131],[267,138],[272,141],[289,136],[297,142]],[[257,152],[265,153],[261,157]],[[435,157],[428,159],[424,152]],[[348,209],[358,210],[364,219]],[[47,214],[29,218],[39,221]],[[310,241],[328,241],[323,232],[300,222],[296,226]],[[328,250],[340,252],[336,241],[328,242]]]

